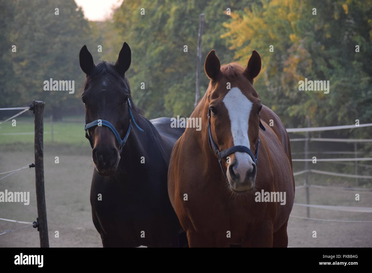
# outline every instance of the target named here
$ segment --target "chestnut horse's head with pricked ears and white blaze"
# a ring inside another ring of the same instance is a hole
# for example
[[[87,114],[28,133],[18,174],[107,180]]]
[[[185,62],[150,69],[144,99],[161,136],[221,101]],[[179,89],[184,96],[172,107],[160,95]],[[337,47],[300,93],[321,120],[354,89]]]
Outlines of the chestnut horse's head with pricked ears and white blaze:
[[[212,139],[219,151],[238,146],[235,152],[228,150],[221,156],[227,180],[234,192],[251,191],[256,180],[254,151],[258,145],[262,108],[253,79],[261,70],[261,57],[253,51],[246,68],[236,63],[221,67],[212,50],[205,59],[204,69],[211,79],[204,111],[210,113]],[[224,160],[227,156],[230,160]]]

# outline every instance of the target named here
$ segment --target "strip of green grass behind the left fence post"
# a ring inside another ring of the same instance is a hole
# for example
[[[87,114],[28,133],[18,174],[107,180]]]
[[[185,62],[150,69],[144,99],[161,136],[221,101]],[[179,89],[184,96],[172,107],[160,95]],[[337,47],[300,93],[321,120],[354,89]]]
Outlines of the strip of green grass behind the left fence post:
[[[84,117],[74,117],[74,120],[76,121],[54,121],[52,141],[51,122],[49,118],[44,118],[44,143],[86,145]],[[81,120],[81,122],[78,120]],[[12,126],[12,121],[9,120],[0,124],[0,145],[33,144],[33,132],[33,116],[17,117],[16,126]]]

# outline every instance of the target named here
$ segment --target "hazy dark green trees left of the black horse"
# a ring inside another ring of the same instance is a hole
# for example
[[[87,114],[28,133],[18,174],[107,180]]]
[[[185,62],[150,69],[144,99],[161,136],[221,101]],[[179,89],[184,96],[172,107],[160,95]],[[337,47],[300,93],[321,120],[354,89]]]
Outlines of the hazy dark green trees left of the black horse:
[[[43,100],[55,117],[62,111],[83,109],[78,100],[84,81],[78,53],[84,44],[94,41],[75,1],[1,0],[0,6],[6,10],[0,19],[5,27],[1,34],[0,105],[25,106],[33,99]],[[59,15],[55,15],[56,7]],[[44,81],[49,78],[74,80],[75,93],[44,91]]]

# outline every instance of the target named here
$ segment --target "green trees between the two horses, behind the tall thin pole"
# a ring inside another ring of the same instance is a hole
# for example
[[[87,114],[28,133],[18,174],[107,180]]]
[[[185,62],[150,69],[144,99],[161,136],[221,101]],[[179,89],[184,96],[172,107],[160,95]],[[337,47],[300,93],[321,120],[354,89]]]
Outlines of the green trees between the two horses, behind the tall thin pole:
[[[247,1],[227,4],[218,1],[148,1],[127,0],[114,14],[115,39],[106,43],[114,50],[105,55],[115,60],[125,41],[132,49],[132,65],[127,73],[134,100],[148,118],[189,116],[195,100],[196,46],[199,14],[205,13],[202,38],[202,63],[211,49],[217,50],[222,62],[231,62],[234,52],[220,36],[222,23],[231,20],[228,7],[242,9]],[[145,15],[141,15],[141,8]],[[187,52],[184,46],[187,45]],[[141,82],[145,89],[141,89]],[[208,87],[201,68],[201,92]],[[203,94],[201,94],[203,95]]]

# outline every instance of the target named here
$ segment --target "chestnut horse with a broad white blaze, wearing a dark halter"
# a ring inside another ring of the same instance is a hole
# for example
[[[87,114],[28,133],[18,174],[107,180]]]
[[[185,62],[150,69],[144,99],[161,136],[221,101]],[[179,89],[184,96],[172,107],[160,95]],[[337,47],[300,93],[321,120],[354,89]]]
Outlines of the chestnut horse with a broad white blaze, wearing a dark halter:
[[[190,116],[201,118],[202,129],[186,128],[168,171],[169,197],[190,247],[288,246],[291,148],[279,117],[253,88],[261,65],[256,51],[246,68],[221,67],[213,50],[205,60],[210,83]]]

